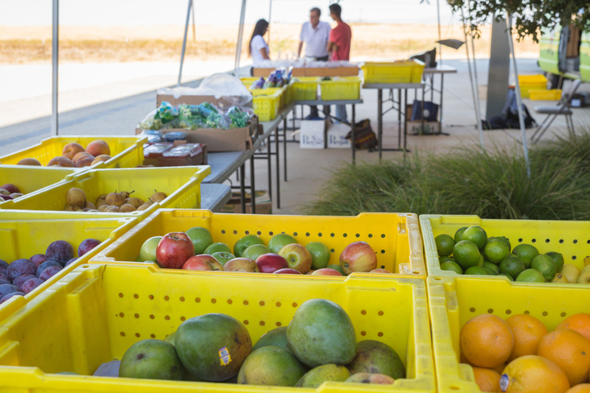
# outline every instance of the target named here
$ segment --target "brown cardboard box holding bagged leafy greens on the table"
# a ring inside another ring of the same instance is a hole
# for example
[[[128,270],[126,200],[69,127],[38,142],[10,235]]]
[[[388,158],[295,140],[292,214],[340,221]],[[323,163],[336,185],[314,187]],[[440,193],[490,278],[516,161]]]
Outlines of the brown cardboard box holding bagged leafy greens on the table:
[[[142,129],[136,129],[135,133],[142,133]],[[248,127],[232,130],[220,130],[217,128],[201,128],[196,130],[163,129],[163,134],[169,132],[186,132],[186,143],[204,143],[208,152],[238,152],[251,149],[256,140],[258,130],[258,117],[250,120]]]

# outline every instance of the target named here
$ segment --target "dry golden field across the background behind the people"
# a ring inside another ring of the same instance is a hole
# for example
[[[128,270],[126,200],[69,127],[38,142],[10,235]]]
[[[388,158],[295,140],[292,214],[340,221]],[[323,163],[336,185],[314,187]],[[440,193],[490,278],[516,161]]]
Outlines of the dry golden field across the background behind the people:
[[[435,25],[352,24],[351,60],[398,59],[434,47],[438,39]],[[252,30],[245,26],[244,53]],[[293,57],[299,41],[300,25],[271,24],[271,58]],[[488,57],[490,29],[482,28],[476,40],[477,57]],[[178,61],[182,47],[182,26],[150,27],[60,27],[60,61],[63,63],[120,63],[127,61]],[[459,25],[442,27],[442,38],[463,40]],[[51,27],[0,26],[0,64],[39,64],[51,61]],[[197,25],[195,40],[189,27],[187,60],[232,60],[237,25]],[[517,55],[536,57],[538,45],[516,43]],[[442,49],[444,58],[465,58],[465,48]],[[247,55],[242,55],[242,59]]]

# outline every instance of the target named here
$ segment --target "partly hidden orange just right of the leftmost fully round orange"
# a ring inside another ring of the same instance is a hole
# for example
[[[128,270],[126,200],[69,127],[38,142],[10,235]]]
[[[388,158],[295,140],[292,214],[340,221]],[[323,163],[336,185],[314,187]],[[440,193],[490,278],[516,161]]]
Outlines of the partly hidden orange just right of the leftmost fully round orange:
[[[509,362],[520,356],[536,355],[539,341],[548,333],[543,322],[532,315],[517,314],[506,320],[514,334],[514,349]]]

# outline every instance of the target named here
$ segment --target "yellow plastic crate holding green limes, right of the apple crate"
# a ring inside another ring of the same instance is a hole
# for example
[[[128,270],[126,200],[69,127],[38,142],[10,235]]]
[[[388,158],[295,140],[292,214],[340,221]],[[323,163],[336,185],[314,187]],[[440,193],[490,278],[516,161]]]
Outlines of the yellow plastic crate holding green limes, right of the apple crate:
[[[459,277],[454,271],[441,270],[438,260],[437,245],[434,238],[440,234],[454,237],[461,227],[479,225],[488,237],[506,236],[512,248],[521,243],[534,245],[540,253],[556,251],[563,254],[565,263],[571,263],[579,268],[584,267],[584,258],[590,256],[590,221],[550,221],[550,220],[489,220],[477,215],[420,215],[420,230],[424,240],[424,253],[428,276]],[[468,276],[477,277],[481,276]],[[486,276],[493,277],[493,276]],[[507,281],[503,276],[494,277],[496,280]],[[525,283],[511,282],[512,285]],[[541,287],[570,288],[576,284],[548,284],[535,283]]]

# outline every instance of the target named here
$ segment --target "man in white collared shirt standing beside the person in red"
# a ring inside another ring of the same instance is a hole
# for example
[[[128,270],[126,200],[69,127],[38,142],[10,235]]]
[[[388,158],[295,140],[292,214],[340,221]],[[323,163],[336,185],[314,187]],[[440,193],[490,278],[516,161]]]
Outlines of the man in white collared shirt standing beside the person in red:
[[[309,22],[301,27],[299,35],[299,48],[297,56],[301,57],[301,49],[305,42],[305,57],[313,57],[317,61],[328,61],[328,40],[332,27],[328,22],[321,22],[322,11],[314,7],[309,11]],[[310,117],[317,117],[317,106],[310,106],[312,113]]]

